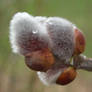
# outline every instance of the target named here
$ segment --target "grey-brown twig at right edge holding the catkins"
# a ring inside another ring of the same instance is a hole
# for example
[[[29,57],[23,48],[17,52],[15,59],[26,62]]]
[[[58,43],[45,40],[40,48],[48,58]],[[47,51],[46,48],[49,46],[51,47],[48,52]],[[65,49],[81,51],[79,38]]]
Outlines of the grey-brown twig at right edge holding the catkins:
[[[92,71],[92,58],[87,58],[84,55],[79,55],[74,58],[74,66],[77,69]]]

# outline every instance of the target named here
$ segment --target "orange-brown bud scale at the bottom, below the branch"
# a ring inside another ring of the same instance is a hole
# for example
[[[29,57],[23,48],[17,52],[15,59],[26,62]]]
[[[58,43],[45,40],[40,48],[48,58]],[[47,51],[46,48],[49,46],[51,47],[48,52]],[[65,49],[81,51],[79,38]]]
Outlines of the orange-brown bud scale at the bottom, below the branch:
[[[76,70],[73,67],[68,67],[61,73],[59,78],[56,80],[57,84],[66,85],[72,82],[76,77]]]

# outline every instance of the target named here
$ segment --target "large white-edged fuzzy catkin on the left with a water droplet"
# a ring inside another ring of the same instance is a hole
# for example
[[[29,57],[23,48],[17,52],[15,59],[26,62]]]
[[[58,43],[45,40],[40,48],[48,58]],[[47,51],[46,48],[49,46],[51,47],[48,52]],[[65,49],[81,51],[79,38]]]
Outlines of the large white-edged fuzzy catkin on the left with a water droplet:
[[[48,47],[45,26],[28,13],[16,13],[10,23],[10,42],[15,53],[25,55]]]

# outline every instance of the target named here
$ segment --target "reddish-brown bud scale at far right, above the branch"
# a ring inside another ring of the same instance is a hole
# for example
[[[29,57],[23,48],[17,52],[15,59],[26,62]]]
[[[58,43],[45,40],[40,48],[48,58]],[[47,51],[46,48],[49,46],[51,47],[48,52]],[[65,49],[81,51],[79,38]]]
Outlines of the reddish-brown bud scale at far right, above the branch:
[[[79,55],[80,53],[83,53],[85,50],[85,37],[83,33],[75,28],[74,30],[74,37],[75,37],[75,50],[74,55]]]

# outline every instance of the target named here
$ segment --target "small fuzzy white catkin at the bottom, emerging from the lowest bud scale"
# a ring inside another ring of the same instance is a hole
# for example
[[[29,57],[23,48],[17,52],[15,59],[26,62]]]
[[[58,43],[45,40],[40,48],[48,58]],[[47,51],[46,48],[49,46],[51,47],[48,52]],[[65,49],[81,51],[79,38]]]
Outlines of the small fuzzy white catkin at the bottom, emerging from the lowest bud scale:
[[[48,71],[37,72],[37,75],[45,85],[56,84],[58,77],[62,74],[65,68],[66,67],[63,67],[62,64],[60,65],[59,62],[57,62],[57,64],[51,67]]]

